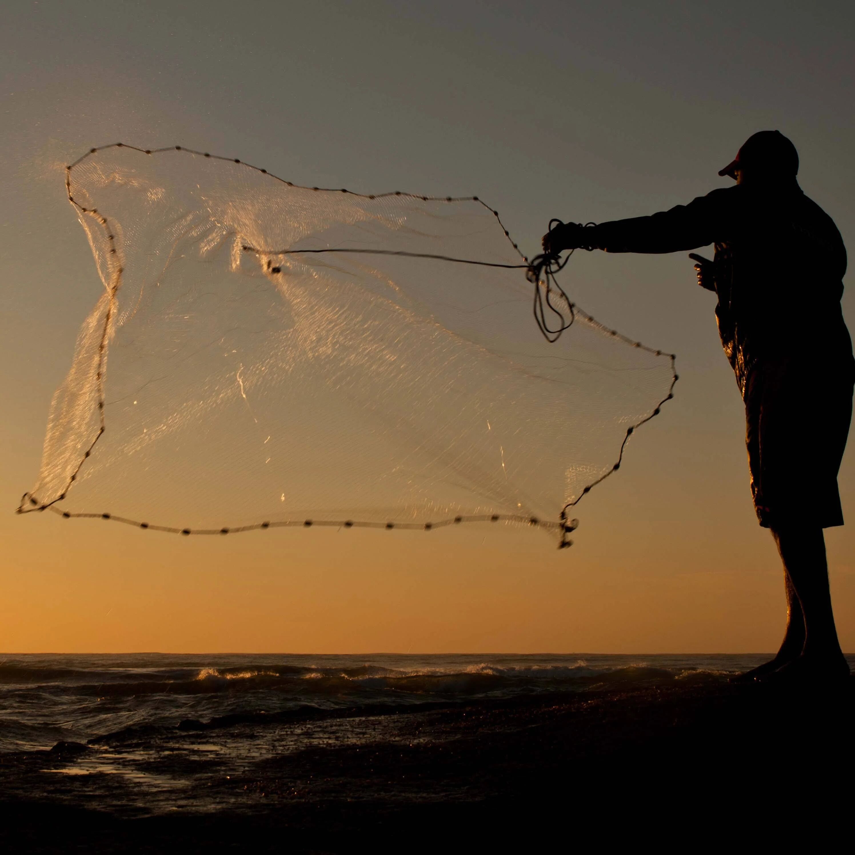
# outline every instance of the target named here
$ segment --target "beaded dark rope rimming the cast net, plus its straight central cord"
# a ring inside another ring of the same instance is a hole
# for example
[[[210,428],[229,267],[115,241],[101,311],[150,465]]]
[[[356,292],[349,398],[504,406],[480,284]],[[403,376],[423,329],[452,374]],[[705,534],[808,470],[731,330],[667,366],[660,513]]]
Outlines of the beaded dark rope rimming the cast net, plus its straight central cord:
[[[665,396],[665,398],[663,398],[659,402],[659,404],[657,404],[656,409],[653,410],[652,413],[650,413],[648,416],[646,416],[640,422],[637,422],[632,427],[628,428],[627,433],[625,434],[625,436],[623,438],[620,453],[618,455],[616,463],[614,463],[612,465],[611,469],[609,469],[607,472],[605,472],[604,475],[601,475],[596,481],[593,481],[591,484],[588,484],[587,486],[585,486],[582,489],[581,493],[572,502],[569,502],[563,506],[563,509],[561,510],[561,514],[559,516],[560,522],[545,522],[545,521],[541,521],[537,517],[526,517],[526,516],[516,517],[516,516],[490,515],[490,516],[485,516],[483,518],[482,517],[454,517],[454,518],[451,518],[450,520],[440,521],[437,523],[425,523],[425,524],[420,524],[420,523],[388,523],[388,522],[387,523],[382,523],[382,522],[355,522],[355,521],[335,522],[335,521],[304,520],[302,522],[297,522],[297,521],[268,522],[268,523],[262,522],[262,523],[257,523],[257,524],[252,525],[252,526],[243,526],[243,527],[237,527],[237,528],[220,528],[220,529],[211,528],[211,529],[193,530],[193,529],[189,529],[189,528],[171,528],[168,526],[155,526],[155,525],[150,526],[148,523],[145,523],[145,522],[135,522],[133,520],[128,520],[125,517],[113,516],[111,514],[70,513],[68,511],[59,510],[58,508],[56,508],[56,503],[61,502],[62,499],[66,498],[66,494],[68,493],[68,490],[71,488],[71,486],[73,486],[74,481],[76,481],[77,476],[80,474],[80,469],[82,468],[83,464],[88,459],[88,457],[91,456],[91,451],[93,450],[93,448],[97,444],[98,439],[101,439],[101,437],[103,436],[103,433],[106,430],[106,424],[105,424],[105,420],[104,420],[104,392],[103,392],[104,358],[105,358],[107,340],[109,338],[110,321],[112,321],[113,311],[115,309],[115,295],[121,286],[121,274],[124,272],[124,264],[121,260],[121,253],[117,250],[117,248],[115,246],[115,235],[113,233],[113,230],[110,229],[110,227],[109,227],[109,221],[107,220],[107,218],[104,215],[100,214],[97,209],[87,209],[74,199],[74,195],[72,192],[72,186],[71,186],[71,170],[74,167],[78,166],[81,162],[85,161],[88,157],[92,156],[93,154],[96,154],[98,151],[102,151],[102,150],[106,150],[106,149],[112,149],[112,148],[127,148],[127,149],[130,149],[133,151],[139,151],[141,154],[144,154],[144,155],[161,154],[162,152],[166,152],[166,151],[186,151],[188,154],[191,154],[192,156],[202,156],[202,157],[212,158],[214,160],[220,160],[223,162],[238,163],[238,164],[244,166],[245,168],[250,168],[250,169],[255,170],[258,173],[268,175],[270,178],[272,178],[276,181],[280,181],[280,183],[285,184],[286,186],[297,187],[298,189],[302,189],[302,190],[312,190],[312,191],[317,191],[317,192],[342,192],[342,193],[349,193],[353,196],[357,196],[360,198],[368,198],[368,199],[388,198],[388,197],[407,197],[407,198],[421,199],[424,202],[445,202],[445,203],[448,203],[448,202],[466,202],[466,201],[477,202],[477,203],[480,203],[484,208],[489,210],[493,216],[495,216],[496,221],[499,224],[499,227],[501,227],[502,231],[504,232],[505,238],[508,240],[510,245],[513,246],[517,255],[519,255],[519,257],[522,258],[523,262],[526,262],[525,264],[510,265],[510,264],[498,264],[498,263],[492,263],[492,262],[478,262],[478,261],[472,261],[469,259],[441,257],[441,256],[429,256],[429,255],[421,255],[421,254],[416,254],[416,253],[406,253],[406,252],[397,252],[397,251],[374,251],[374,252],[377,254],[382,254],[382,255],[403,255],[403,256],[411,256],[411,257],[431,257],[431,258],[438,258],[440,260],[445,260],[445,261],[479,264],[479,265],[488,266],[488,267],[529,268],[530,269],[530,265],[528,263],[528,257],[522,253],[519,246],[516,245],[514,240],[510,237],[510,233],[508,232],[508,229],[504,227],[504,224],[502,223],[501,219],[499,218],[498,210],[492,209],[486,202],[484,202],[481,198],[479,198],[477,196],[457,196],[457,197],[452,197],[452,196],[446,196],[446,197],[422,196],[422,195],[419,195],[417,193],[405,193],[405,192],[401,192],[401,191],[386,192],[386,193],[379,193],[379,194],[366,194],[366,193],[357,193],[357,192],[353,192],[351,190],[346,190],[343,187],[342,188],[309,187],[309,186],[294,184],[294,183],[292,183],[292,181],[287,181],[285,179],[280,178],[278,175],[274,175],[273,173],[269,173],[267,169],[263,169],[263,168],[260,168],[257,166],[253,166],[251,163],[243,162],[243,161],[239,160],[239,158],[237,158],[237,157],[224,157],[221,155],[211,155],[209,152],[206,152],[206,151],[197,151],[197,150],[193,150],[193,149],[187,149],[187,148],[184,148],[180,145],[169,145],[169,146],[164,146],[164,147],[159,148],[159,149],[141,149],[141,148],[139,148],[139,146],[136,146],[136,145],[128,145],[125,143],[111,143],[108,145],[102,145],[102,146],[97,146],[97,147],[91,148],[90,150],[86,151],[85,154],[81,155],[76,161],[74,161],[74,162],[68,164],[68,166],[66,166],[66,168],[65,168],[65,171],[66,171],[65,186],[66,186],[66,191],[68,193],[68,201],[70,203],[72,203],[72,205],[76,209],[78,209],[81,214],[87,214],[87,215],[91,215],[91,216],[94,216],[97,218],[97,221],[103,226],[103,229],[104,229],[104,232],[106,235],[106,239],[107,239],[108,244],[109,244],[109,252],[107,254],[107,258],[108,258],[108,261],[110,263],[110,277],[109,277],[109,283],[110,284],[109,284],[108,289],[107,289],[108,295],[109,295],[109,302],[107,305],[106,313],[104,315],[103,330],[102,330],[101,339],[100,339],[100,342],[98,345],[98,369],[97,369],[97,374],[96,374],[97,394],[98,394],[97,408],[98,408],[99,428],[98,428],[97,434],[95,435],[94,439],[92,439],[91,444],[86,449],[83,457],[80,458],[80,463],[78,463],[76,469],[74,469],[74,473],[69,478],[68,484],[66,485],[66,487],[62,491],[62,493],[57,498],[55,498],[52,501],[45,503],[45,504],[40,504],[38,502],[38,499],[35,499],[31,493],[25,493],[24,496],[21,498],[21,504],[19,504],[17,509],[15,510],[15,512],[18,514],[30,513],[33,510],[50,510],[56,514],[59,514],[60,516],[67,518],[67,519],[68,518],[90,518],[90,519],[101,518],[101,519],[106,519],[106,520],[113,520],[115,522],[123,522],[127,525],[132,525],[132,526],[135,526],[137,528],[151,528],[154,531],[162,531],[162,532],[167,532],[170,534],[231,534],[233,532],[238,533],[238,532],[252,531],[252,530],[262,529],[262,528],[283,528],[283,527],[297,527],[297,526],[311,526],[311,525],[340,526],[343,528],[357,528],[357,527],[359,527],[359,528],[404,528],[404,529],[409,528],[411,530],[412,529],[432,530],[433,528],[442,528],[444,526],[453,525],[457,522],[486,522],[486,521],[495,522],[495,521],[501,519],[501,520],[504,520],[507,522],[528,522],[528,524],[533,525],[535,527],[551,528],[551,529],[560,530],[561,531],[561,541],[558,544],[558,548],[563,549],[564,547],[572,545],[573,541],[569,540],[567,535],[570,532],[574,531],[576,526],[578,525],[578,520],[572,520],[572,521],[568,522],[567,511],[569,510],[569,508],[572,508],[576,504],[578,504],[581,501],[581,499],[584,496],[586,496],[587,493],[590,492],[594,486],[597,486],[599,483],[601,483],[606,478],[608,478],[610,475],[612,475],[614,472],[616,472],[617,469],[620,469],[622,459],[623,459],[623,452],[624,452],[624,449],[626,448],[629,437],[634,433],[635,429],[640,428],[641,425],[645,424],[646,422],[651,421],[651,419],[654,416],[658,416],[662,405],[666,401],[669,401],[671,398],[674,397],[674,386],[675,386],[676,381],[680,379],[679,375],[676,374],[676,371],[675,371],[675,360],[676,360],[675,354],[673,354],[673,353],[667,354],[661,350],[654,350],[652,347],[648,347],[647,345],[643,345],[640,341],[635,341],[634,339],[630,339],[630,338],[628,338],[628,336],[625,336],[622,333],[618,333],[616,329],[606,327],[600,321],[596,321],[593,318],[593,315],[588,315],[587,312],[585,312],[584,310],[581,310],[576,304],[570,302],[568,299],[567,302],[569,304],[569,308],[570,308],[571,312],[574,312],[578,315],[581,315],[581,317],[584,318],[585,321],[590,323],[591,326],[598,328],[600,331],[602,331],[604,333],[608,333],[613,338],[619,339],[627,345],[631,345],[633,347],[639,348],[640,350],[651,353],[654,356],[657,356],[657,357],[667,356],[667,357],[669,357],[670,363],[671,363],[672,377],[671,377],[671,385],[669,386],[669,393],[668,393],[668,395]],[[242,248],[245,251],[254,251],[257,253],[263,252],[263,251],[255,249],[254,247],[251,247],[251,246],[243,246]],[[274,253],[270,253],[270,254],[285,255],[285,254],[298,254],[299,252],[316,253],[316,252],[331,252],[331,251],[332,252],[340,252],[340,251],[346,251],[346,250],[333,248],[333,249],[327,249],[327,250],[283,251],[283,252],[278,252],[278,253],[274,252]],[[370,250],[359,250],[359,249],[350,250],[350,251],[370,252]],[[564,263],[566,263],[566,260]],[[563,267],[563,264],[561,266]],[[539,280],[537,282],[538,289],[540,288],[541,285],[545,285],[545,283],[543,283]],[[538,296],[538,294],[536,292],[535,298],[537,298],[537,296]],[[565,297],[566,297],[566,295],[565,295]],[[548,299],[548,295],[547,295],[547,299]],[[33,505],[37,505],[37,506],[26,507],[27,504],[33,504]]]

